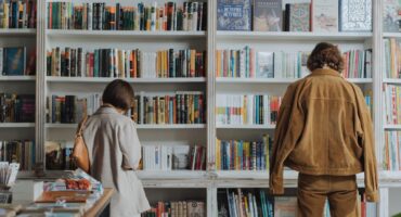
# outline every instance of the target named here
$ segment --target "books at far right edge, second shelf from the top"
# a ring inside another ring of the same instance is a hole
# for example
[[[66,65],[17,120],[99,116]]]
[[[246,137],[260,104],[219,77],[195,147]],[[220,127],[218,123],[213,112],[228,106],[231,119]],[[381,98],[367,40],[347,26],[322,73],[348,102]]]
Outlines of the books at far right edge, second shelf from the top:
[[[396,38],[386,38],[384,43],[384,75],[387,78],[401,78],[401,42]]]

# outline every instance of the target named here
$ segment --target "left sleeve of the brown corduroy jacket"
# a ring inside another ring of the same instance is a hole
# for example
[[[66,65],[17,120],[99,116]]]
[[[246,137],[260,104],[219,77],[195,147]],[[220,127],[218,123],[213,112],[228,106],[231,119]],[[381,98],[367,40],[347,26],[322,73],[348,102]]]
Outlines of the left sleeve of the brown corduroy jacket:
[[[271,194],[283,194],[284,162],[293,151],[303,129],[303,111],[295,94],[294,87],[289,86],[279,111],[275,127],[272,157],[270,162],[269,191]]]

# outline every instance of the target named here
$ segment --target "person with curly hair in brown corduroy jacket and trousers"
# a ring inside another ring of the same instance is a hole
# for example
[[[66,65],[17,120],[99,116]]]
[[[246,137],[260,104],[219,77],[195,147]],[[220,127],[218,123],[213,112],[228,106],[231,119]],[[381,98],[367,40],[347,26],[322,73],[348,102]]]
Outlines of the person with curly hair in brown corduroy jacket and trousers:
[[[373,126],[360,88],[341,77],[336,46],[321,42],[308,59],[309,76],[292,84],[279,112],[270,164],[270,193],[283,194],[283,167],[299,171],[298,216],[358,216],[355,174],[378,201]]]

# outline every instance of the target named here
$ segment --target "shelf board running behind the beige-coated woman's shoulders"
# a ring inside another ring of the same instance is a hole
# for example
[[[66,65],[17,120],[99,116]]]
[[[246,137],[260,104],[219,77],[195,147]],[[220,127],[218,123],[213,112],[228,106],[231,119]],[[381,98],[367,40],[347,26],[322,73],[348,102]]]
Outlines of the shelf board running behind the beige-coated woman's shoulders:
[[[46,124],[47,128],[77,128],[78,124]],[[202,129],[206,124],[191,125],[137,125],[137,129]]]

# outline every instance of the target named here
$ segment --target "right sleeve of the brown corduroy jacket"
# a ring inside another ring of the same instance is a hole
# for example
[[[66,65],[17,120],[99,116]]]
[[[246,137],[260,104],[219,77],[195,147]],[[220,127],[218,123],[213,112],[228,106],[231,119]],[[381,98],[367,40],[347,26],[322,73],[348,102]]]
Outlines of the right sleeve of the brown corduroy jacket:
[[[365,194],[368,202],[378,201],[377,163],[373,136],[373,124],[362,91],[353,87],[357,94],[358,141],[363,150],[363,167],[365,173]]]

